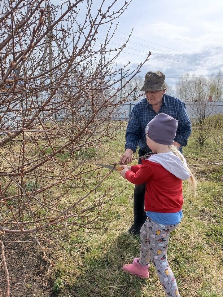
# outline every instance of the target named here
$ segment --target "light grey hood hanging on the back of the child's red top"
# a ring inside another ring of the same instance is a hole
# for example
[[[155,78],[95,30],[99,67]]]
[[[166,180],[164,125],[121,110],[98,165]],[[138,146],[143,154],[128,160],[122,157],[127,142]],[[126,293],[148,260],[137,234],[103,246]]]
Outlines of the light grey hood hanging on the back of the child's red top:
[[[173,152],[154,154],[149,157],[148,160],[151,162],[159,163],[180,180],[187,180],[190,177],[190,173],[184,167],[181,159],[177,157]],[[184,157],[183,160],[186,165],[186,160]]]

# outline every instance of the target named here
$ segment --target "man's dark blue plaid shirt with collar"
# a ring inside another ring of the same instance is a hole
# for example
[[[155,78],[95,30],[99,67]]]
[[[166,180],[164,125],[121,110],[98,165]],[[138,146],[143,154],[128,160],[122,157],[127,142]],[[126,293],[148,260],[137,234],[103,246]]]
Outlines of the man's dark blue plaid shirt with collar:
[[[169,95],[163,96],[163,103],[160,106],[158,113],[166,113],[178,120],[178,128],[174,141],[186,146],[187,139],[191,133],[191,122],[186,112],[186,107],[183,101]],[[151,149],[146,144],[145,128],[158,113],[152,108],[152,105],[147,102],[146,98],[135,104],[131,112],[129,123],[125,134],[125,149],[136,151],[137,146],[149,153]]]

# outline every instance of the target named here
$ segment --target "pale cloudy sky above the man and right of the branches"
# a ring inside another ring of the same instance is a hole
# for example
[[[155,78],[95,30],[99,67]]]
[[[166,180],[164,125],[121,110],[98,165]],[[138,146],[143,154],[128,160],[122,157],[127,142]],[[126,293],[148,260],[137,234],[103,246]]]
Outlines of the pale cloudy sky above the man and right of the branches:
[[[101,0],[92,2],[97,11]],[[105,1],[104,10],[111,2]],[[124,2],[118,0],[117,5]],[[86,6],[86,0],[83,6]],[[111,47],[121,46],[134,28],[127,47],[117,60],[118,66],[131,61],[131,68],[134,68],[151,51],[150,61],[140,75],[144,79],[147,71],[160,70],[170,85],[186,72],[208,77],[223,70],[222,12],[222,0],[132,0],[116,20],[120,24],[111,43]],[[85,10],[78,14],[80,22],[81,13],[85,16]],[[100,28],[101,38],[107,29],[108,25]]]

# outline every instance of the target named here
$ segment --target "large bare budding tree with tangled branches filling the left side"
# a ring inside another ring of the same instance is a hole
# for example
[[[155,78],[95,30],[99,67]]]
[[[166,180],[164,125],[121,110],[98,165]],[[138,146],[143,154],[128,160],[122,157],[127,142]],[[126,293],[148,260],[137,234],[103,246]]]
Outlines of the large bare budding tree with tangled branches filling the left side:
[[[100,215],[112,198],[110,188],[102,193],[100,185],[111,172],[92,175],[92,162],[100,157],[100,145],[119,133],[121,123],[112,125],[110,119],[133,92],[117,100],[121,70],[128,78],[125,88],[148,60],[132,72],[127,65],[115,67],[128,39],[111,49],[113,22],[128,5],[101,0],[93,12],[92,1],[86,7],[82,0],[58,6],[46,0],[0,1],[0,242],[7,296],[4,249],[10,242],[28,236],[53,266],[45,242],[96,222],[107,228]],[[99,42],[102,25],[108,29]]]

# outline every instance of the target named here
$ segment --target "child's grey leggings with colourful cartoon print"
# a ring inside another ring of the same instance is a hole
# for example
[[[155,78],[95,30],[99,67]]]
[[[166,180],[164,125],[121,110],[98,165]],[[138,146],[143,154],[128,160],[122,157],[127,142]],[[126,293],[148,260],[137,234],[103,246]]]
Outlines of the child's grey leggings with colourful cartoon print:
[[[148,217],[140,231],[139,263],[145,266],[152,261],[166,295],[172,297],[180,296],[176,279],[167,261],[169,233],[176,227],[177,225],[158,224]]]

